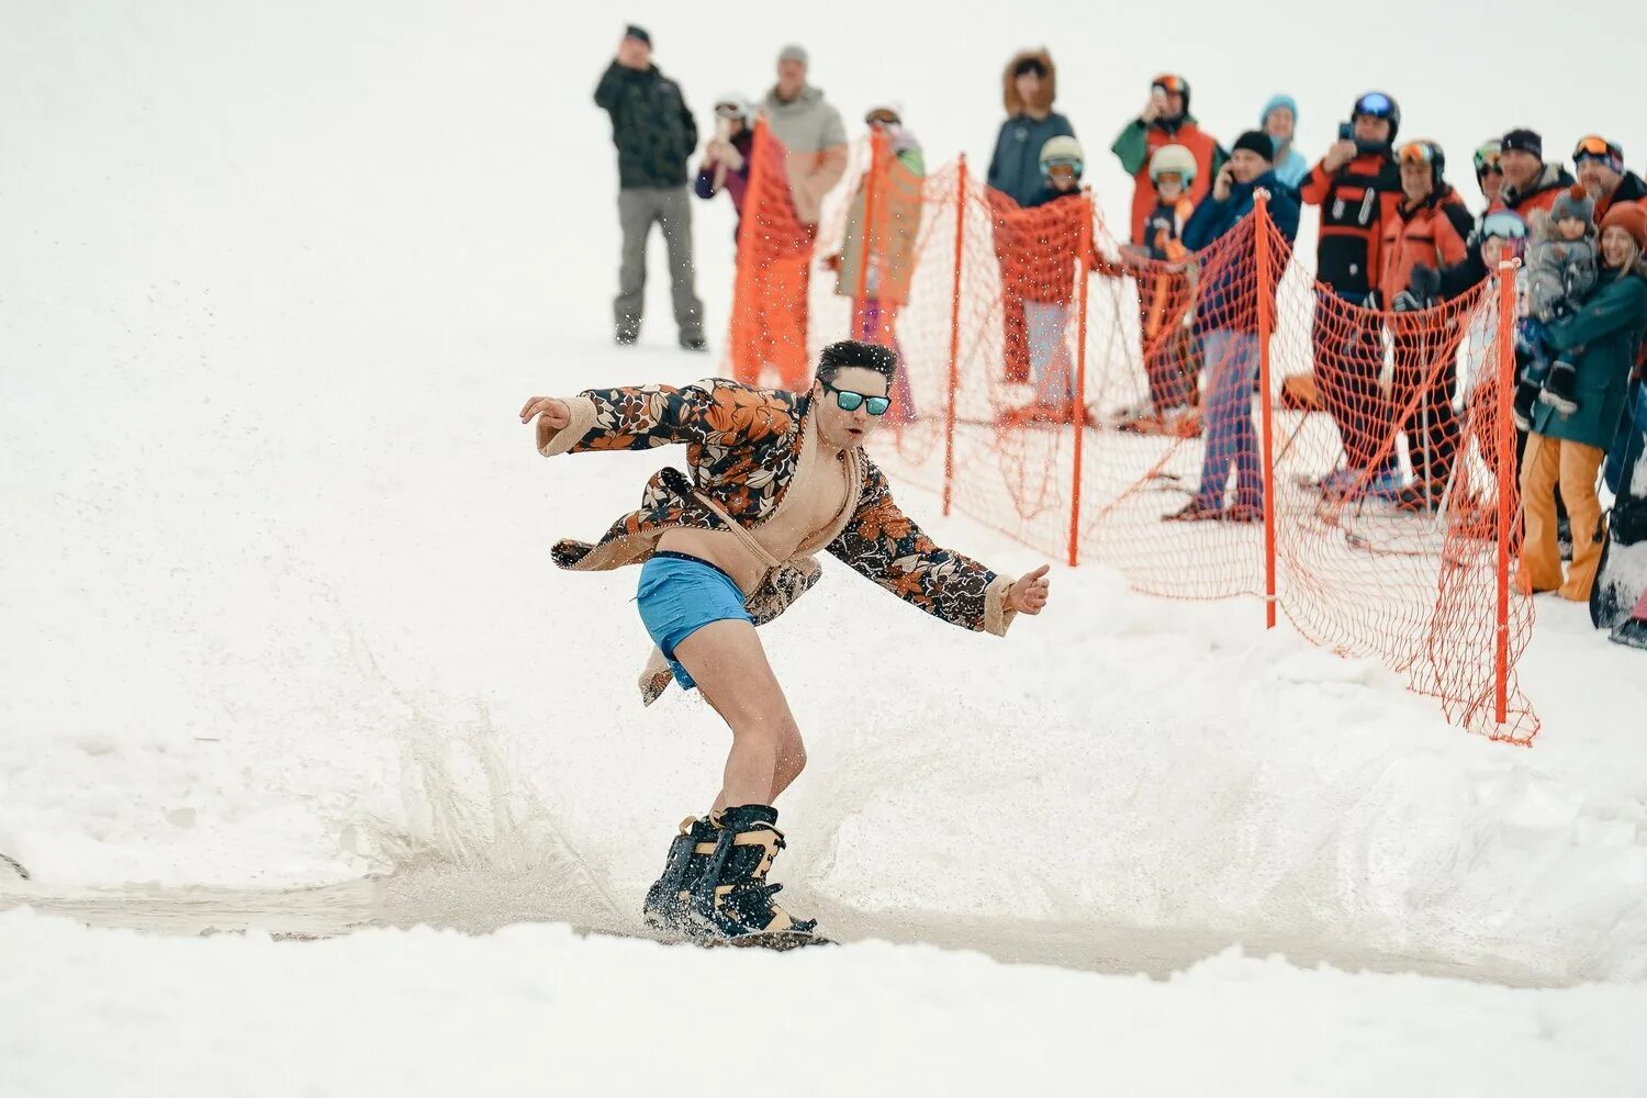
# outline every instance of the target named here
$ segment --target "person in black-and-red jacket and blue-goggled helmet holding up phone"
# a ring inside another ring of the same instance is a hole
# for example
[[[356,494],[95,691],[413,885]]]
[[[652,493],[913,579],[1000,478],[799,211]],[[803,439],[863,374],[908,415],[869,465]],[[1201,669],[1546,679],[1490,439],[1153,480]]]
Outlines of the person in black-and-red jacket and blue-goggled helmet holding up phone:
[[[1395,451],[1387,444],[1390,407],[1379,390],[1383,324],[1365,311],[1379,305],[1383,227],[1402,201],[1402,173],[1392,151],[1400,128],[1397,102],[1367,92],[1339,128],[1339,142],[1298,188],[1304,202],[1321,207],[1316,277],[1324,288],[1313,328],[1316,385],[1337,423],[1346,459],[1346,468],[1321,486],[1337,494],[1365,486],[1393,499],[1400,489]]]

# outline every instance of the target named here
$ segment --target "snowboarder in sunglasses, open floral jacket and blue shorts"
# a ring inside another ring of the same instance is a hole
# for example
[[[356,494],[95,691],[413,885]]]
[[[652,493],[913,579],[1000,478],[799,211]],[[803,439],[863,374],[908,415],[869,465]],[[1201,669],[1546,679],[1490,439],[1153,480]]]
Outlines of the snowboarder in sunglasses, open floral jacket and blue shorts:
[[[537,421],[544,456],[687,448],[690,477],[662,469],[641,509],[598,543],[553,547],[555,563],[573,571],[642,565],[636,603],[657,645],[642,698],[674,678],[731,728],[712,812],[680,826],[647,892],[644,915],[665,933],[782,932],[792,943],[815,927],[776,907],[779,886],[766,882],[784,848],[772,802],[799,777],[805,749],[754,630],[817,581],[814,553],[963,629],[1005,635],[1016,614],[1046,606],[1044,565],[1018,579],[996,575],[939,547],[893,502],[863,444],[891,403],[896,365],[886,347],[842,341],[824,349],[802,393],[715,379],[532,397],[520,410],[522,423]]]

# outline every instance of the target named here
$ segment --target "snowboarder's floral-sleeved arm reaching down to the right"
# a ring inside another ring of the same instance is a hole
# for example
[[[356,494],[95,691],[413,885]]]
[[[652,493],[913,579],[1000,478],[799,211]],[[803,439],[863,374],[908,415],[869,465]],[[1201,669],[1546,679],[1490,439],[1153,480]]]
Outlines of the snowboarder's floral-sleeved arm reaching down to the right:
[[[939,621],[1005,635],[1016,614],[1046,607],[1046,566],[1016,581],[942,548],[893,502],[886,476],[870,464],[858,510],[828,553]]]

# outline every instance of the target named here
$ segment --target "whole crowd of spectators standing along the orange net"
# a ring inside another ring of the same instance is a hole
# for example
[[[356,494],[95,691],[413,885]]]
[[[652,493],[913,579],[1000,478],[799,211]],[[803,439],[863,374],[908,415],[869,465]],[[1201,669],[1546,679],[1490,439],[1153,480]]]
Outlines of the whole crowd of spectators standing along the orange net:
[[[784,179],[800,247],[766,270],[782,308],[766,309],[774,344],[807,346],[807,296],[814,260],[832,270],[835,291],[853,300],[855,334],[898,347],[921,226],[926,165],[904,125],[903,107],[879,102],[865,115],[886,156],[876,160],[876,201],[866,179],[847,199],[838,252],[814,255],[824,199],[845,176],[848,138],[840,112],[809,82],[800,46],[777,54],[771,89],[749,102],[736,92],[713,104],[713,133],[698,128],[677,82],[652,63],[644,28],[626,28],[601,76],[595,102],[611,117],[618,148],[618,214],[623,230],[619,291],[613,303],[618,344],[641,331],[646,244],[659,224],[669,255],[674,319],[687,351],[705,351],[703,309],[693,285],[690,194],[725,193],[744,214],[758,119],[784,150]],[[1192,280],[1140,285],[1148,400],[1120,421],[1127,430],[1204,436],[1199,484],[1173,522],[1262,522],[1263,479],[1253,431],[1258,369],[1253,281],[1197,255],[1242,232],[1257,196],[1291,242],[1304,206],[1319,211],[1318,281],[1311,339],[1314,384],[1306,403],[1329,415],[1342,440],[1342,464],[1311,487],[1324,497],[1365,497],[1426,512],[1444,504],[1459,456],[1456,362],[1426,357],[1415,314],[1469,295],[1504,258],[1520,258],[1515,321],[1519,469],[1525,514],[1525,591],[1588,599],[1601,555],[1598,482],[1629,491],[1626,451],[1647,435],[1642,336],[1647,333],[1647,184],[1626,168],[1624,150],[1586,135],[1566,156],[1525,127],[1492,135],[1464,156],[1474,170],[1479,209],[1448,178],[1448,155],[1433,140],[1403,138],[1402,110],[1380,91],[1357,97],[1337,140],[1311,161],[1295,148],[1299,104],[1275,94],[1255,110],[1253,128],[1225,147],[1207,133],[1191,104],[1191,84],[1161,74],[1128,119],[1110,153],[1133,176],[1128,239],[1122,257],[1077,257],[1077,239],[1054,254],[1064,275],[1028,288],[1008,277],[1024,239],[1024,211],[1082,198],[1085,150],[1072,122],[1054,109],[1057,69],[1046,49],[1010,58],[1001,122],[987,183],[1003,272],[1003,377],[1031,385],[1033,402],[1010,421],[1092,416],[1074,400],[1066,344],[1077,258],[1100,275],[1191,272]],[[700,153],[697,170],[688,161]],[[873,207],[873,209],[871,209]],[[1029,234],[1033,235],[1033,232]],[[1046,240],[1041,240],[1043,249]],[[1278,277],[1278,275],[1276,275]],[[1191,295],[1186,285],[1192,285]],[[1047,288],[1052,286],[1052,288]],[[1191,300],[1192,296],[1192,300]],[[1171,323],[1173,316],[1186,323]],[[802,351],[804,354],[804,351]],[[1393,375],[1385,380],[1388,361]],[[805,362],[774,364],[789,387],[807,384]],[[1385,395],[1385,385],[1388,395]],[[916,415],[899,372],[896,415]],[[1402,421],[1393,421],[1403,416]],[[1403,472],[1393,433],[1405,435]],[[1234,489],[1230,481],[1234,479]],[[1570,540],[1563,571],[1560,543]]]

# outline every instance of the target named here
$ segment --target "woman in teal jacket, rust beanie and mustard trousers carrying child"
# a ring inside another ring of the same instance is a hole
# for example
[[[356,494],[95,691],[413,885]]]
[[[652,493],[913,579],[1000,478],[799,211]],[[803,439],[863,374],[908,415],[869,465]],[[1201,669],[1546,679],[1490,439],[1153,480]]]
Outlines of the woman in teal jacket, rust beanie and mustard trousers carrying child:
[[[1533,405],[1522,461],[1525,540],[1517,584],[1522,591],[1560,591],[1584,603],[1596,581],[1601,520],[1596,471],[1624,420],[1631,370],[1647,328],[1647,211],[1614,206],[1601,222],[1601,273],[1589,300],[1545,331],[1545,341],[1576,370],[1581,395],[1573,412]],[[1556,545],[1556,486],[1571,515],[1573,563],[1561,575]]]

